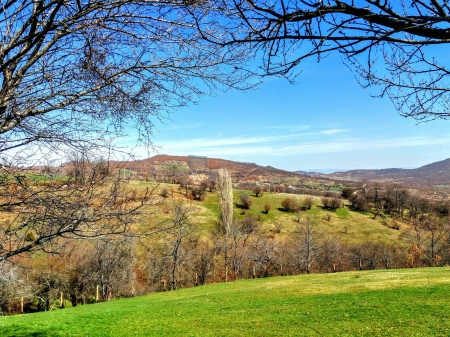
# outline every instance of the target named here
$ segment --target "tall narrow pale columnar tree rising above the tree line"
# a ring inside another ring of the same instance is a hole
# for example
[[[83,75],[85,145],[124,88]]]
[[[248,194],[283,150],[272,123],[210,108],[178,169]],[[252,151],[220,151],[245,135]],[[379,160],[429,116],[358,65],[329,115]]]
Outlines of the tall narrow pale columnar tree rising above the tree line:
[[[221,230],[228,235],[233,223],[233,186],[227,170],[219,170],[216,189],[219,194],[219,222]]]

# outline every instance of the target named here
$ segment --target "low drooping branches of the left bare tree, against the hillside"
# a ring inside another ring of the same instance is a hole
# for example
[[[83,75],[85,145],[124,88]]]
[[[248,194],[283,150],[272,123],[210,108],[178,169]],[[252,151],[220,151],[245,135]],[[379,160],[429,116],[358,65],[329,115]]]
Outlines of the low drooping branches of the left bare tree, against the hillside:
[[[136,191],[103,166],[84,162],[84,181],[34,180],[29,171],[0,171],[0,261],[34,251],[58,252],[71,239],[105,235],[140,236],[155,227],[135,230],[143,212],[158,204],[154,191]]]

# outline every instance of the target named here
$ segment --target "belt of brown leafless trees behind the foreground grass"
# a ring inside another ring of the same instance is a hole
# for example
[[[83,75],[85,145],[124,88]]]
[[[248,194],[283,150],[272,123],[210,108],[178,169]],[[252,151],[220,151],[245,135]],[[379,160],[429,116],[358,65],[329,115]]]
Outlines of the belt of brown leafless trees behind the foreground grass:
[[[214,230],[205,232],[198,227],[196,201],[186,197],[184,189],[183,193],[173,191],[159,197],[156,213],[163,215],[164,226],[157,230],[152,227],[151,236],[115,235],[95,241],[59,242],[56,255],[40,254],[33,259],[18,255],[3,261],[2,310],[51,310],[242,278],[450,263],[446,203],[430,203],[405,189],[376,184],[344,188],[342,198],[324,197],[319,206],[312,197],[292,194],[280,205],[272,205],[296,214],[288,220],[295,224],[294,230],[287,232],[287,224],[279,221],[263,228],[251,214],[242,219],[233,217],[236,203],[262,192],[252,191],[233,199],[230,176],[221,171],[218,177],[215,186],[220,192],[214,193],[221,195],[221,206]],[[391,226],[397,221],[407,224],[408,229],[395,243],[373,242],[370,238],[359,244],[345,243],[321,232],[317,220],[307,212],[311,207],[333,212],[337,209],[331,206],[337,202],[334,199],[339,201],[336,207],[346,204],[352,211],[367,212],[386,223],[389,217]],[[145,227],[143,221],[138,224]]]

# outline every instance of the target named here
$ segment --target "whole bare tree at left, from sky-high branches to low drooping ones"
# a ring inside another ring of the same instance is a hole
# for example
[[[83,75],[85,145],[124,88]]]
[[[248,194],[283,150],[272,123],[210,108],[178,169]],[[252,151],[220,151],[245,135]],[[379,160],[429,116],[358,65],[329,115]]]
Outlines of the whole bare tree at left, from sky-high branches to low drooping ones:
[[[150,145],[154,119],[217,89],[254,85],[237,67],[247,51],[202,40],[186,15],[193,5],[2,2],[0,261],[55,251],[59,238],[130,233],[150,194],[124,189],[93,158],[120,153],[113,141],[126,127]],[[67,161],[67,183],[30,178],[37,165]]]

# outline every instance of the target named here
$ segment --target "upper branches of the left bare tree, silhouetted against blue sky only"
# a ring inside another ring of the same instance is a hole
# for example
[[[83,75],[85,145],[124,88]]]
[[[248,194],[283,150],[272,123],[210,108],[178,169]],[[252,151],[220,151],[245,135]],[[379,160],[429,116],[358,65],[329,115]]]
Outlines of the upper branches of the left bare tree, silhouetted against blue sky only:
[[[205,43],[186,15],[193,6],[4,2],[0,153],[36,141],[105,145],[126,125],[148,143],[151,117],[221,86],[245,87],[248,73],[235,67],[245,51]]]

